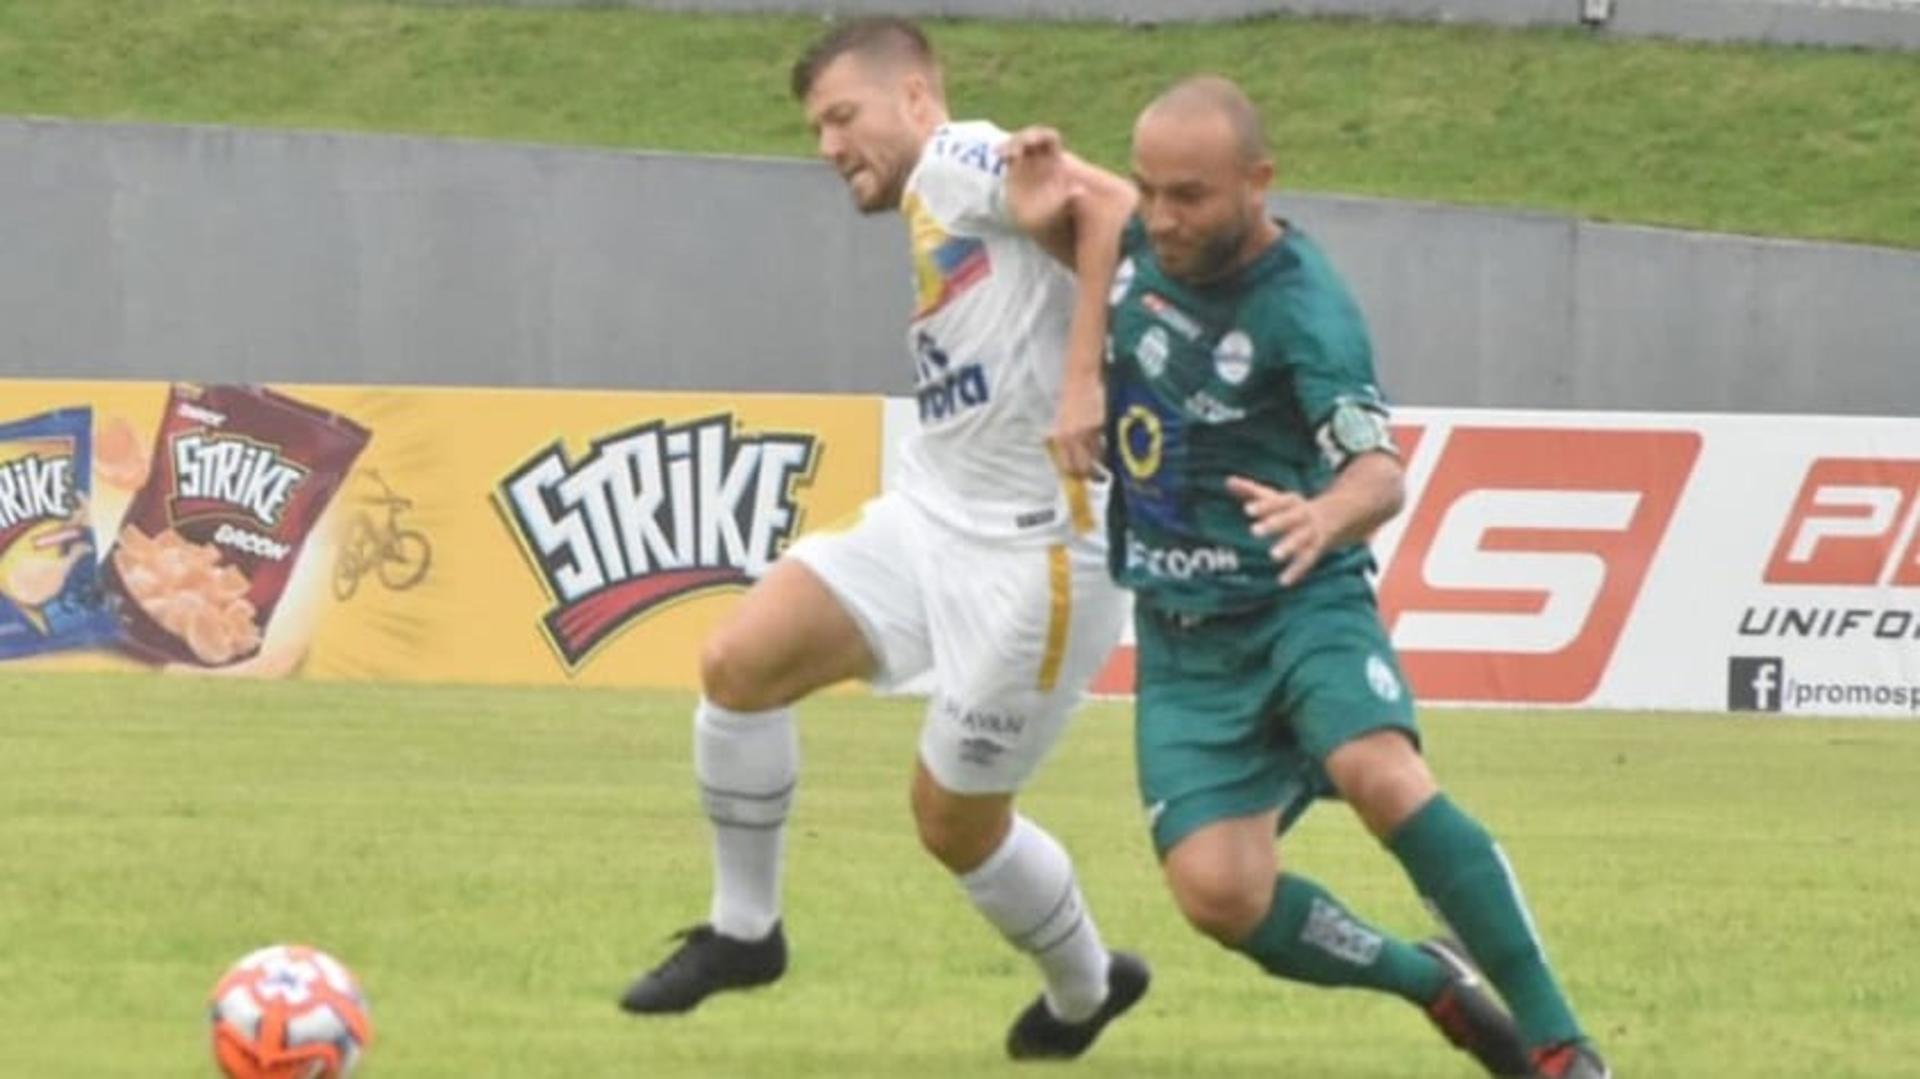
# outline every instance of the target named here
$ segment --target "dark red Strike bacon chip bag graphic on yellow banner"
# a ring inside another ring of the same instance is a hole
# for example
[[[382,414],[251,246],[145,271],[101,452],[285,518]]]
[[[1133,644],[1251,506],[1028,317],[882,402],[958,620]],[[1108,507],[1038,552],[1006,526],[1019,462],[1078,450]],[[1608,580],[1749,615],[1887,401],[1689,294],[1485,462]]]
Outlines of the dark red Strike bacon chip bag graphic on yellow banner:
[[[367,428],[252,386],[175,386],[102,576],[127,651],[228,666],[259,653]]]

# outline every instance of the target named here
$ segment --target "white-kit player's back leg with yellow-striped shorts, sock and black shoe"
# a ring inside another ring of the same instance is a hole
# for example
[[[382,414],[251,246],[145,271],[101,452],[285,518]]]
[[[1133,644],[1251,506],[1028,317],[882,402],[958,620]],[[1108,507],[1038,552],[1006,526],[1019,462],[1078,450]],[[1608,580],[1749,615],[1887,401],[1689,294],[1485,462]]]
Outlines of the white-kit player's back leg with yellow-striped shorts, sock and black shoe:
[[[964,564],[956,564],[964,563]],[[922,728],[914,818],[973,908],[1039,966],[1016,1058],[1079,1056],[1133,1006],[1146,966],[1108,952],[1066,849],[1014,810],[1014,791],[1066,730],[1119,637],[1125,599],[1098,557],[948,545],[927,584],[939,687]]]

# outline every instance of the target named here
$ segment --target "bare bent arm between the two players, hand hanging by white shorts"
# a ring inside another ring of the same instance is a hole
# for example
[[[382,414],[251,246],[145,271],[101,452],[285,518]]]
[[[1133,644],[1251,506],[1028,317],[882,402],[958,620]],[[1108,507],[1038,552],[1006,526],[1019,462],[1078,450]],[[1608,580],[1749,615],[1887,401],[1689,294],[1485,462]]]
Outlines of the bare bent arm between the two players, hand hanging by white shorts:
[[[1060,409],[1052,447],[1060,470],[1087,478],[1100,461],[1106,394],[1106,305],[1119,265],[1119,234],[1133,215],[1133,184],[1068,154],[1060,132],[1020,131],[1000,148],[1008,163],[1006,209],[1014,225],[1073,271],[1073,323],[1068,330]]]

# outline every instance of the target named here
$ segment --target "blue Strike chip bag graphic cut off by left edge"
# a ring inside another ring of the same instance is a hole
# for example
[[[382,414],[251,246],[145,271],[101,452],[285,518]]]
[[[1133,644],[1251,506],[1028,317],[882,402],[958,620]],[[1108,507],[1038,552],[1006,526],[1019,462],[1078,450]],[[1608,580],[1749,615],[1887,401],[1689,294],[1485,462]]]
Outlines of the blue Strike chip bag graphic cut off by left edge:
[[[0,424],[0,659],[113,639],[86,520],[90,493],[88,409]]]

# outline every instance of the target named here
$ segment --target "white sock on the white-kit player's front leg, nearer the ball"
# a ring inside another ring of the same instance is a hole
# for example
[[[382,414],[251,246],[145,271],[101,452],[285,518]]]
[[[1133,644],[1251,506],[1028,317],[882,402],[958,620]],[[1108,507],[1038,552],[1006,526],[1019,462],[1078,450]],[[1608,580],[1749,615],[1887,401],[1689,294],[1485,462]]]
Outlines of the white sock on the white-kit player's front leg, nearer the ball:
[[[693,776],[714,826],[712,925],[722,937],[758,941],[780,920],[799,770],[791,708],[730,712],[703,697],[693,710]]]

